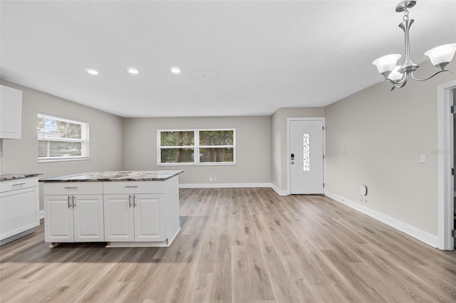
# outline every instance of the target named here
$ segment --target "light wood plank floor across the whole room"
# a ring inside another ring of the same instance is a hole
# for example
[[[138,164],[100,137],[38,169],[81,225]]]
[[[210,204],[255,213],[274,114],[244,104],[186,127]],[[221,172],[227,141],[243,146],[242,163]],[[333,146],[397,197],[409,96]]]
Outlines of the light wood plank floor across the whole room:
[[[456,302],[442,252],[323,196],[180,190],[170,248],[0,248],[0,302]]]

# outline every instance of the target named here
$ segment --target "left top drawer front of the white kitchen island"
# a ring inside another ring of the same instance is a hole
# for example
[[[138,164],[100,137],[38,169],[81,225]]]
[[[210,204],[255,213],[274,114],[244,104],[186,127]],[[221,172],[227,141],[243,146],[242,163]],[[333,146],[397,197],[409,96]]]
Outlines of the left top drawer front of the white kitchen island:
[[[100,195],[102,182],[47,182],[43,186],[45,196],[49,195]]]

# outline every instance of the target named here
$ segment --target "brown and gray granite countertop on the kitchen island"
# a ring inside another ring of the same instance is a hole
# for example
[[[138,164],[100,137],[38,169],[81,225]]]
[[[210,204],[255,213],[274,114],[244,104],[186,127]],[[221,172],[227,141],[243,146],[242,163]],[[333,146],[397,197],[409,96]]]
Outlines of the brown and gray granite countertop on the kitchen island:
[[[40,182],[105,182],[105,181],[165,181],[184,171],[92,171],[39,180]]]

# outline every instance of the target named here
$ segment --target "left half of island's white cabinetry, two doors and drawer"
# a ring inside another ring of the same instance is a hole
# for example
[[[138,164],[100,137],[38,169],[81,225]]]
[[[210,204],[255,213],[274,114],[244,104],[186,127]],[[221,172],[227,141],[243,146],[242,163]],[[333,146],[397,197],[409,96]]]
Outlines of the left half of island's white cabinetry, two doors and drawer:
[[[46,185],[46,242],[103,242],[102,190],[101,182]]]

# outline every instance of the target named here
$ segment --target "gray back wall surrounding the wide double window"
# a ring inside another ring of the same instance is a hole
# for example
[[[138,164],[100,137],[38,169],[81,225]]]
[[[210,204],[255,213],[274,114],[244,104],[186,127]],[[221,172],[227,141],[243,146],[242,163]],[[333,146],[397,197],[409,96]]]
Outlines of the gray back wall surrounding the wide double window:
[[[157,129],[236,128],[235,166],[157,166]],[[271,182],[270,117],[124,119],[124,169],[184,169],[181,184]]]

